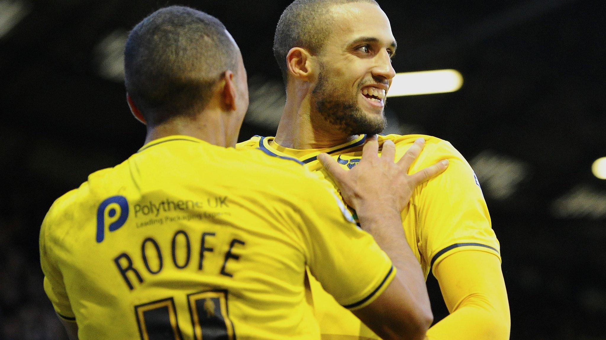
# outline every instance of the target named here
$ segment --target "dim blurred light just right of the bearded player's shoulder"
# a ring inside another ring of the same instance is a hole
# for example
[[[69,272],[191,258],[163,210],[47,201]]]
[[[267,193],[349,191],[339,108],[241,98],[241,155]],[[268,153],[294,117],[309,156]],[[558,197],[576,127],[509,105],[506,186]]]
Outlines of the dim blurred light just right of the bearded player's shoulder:
[[[484,194],[495,200],[511,197],[528,176],[526,163],[490,150],[480,152],[469,163],[482,183]]]

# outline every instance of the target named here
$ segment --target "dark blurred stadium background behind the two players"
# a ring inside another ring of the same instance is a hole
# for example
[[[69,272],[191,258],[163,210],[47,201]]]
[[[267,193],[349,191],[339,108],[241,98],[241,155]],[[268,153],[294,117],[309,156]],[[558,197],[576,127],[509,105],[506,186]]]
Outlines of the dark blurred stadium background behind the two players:
[[[64,339],[42,290],[38,231],[55,200],[122,162],[145,131],[122,83],[128,30],[191,5],[241,47],[240,140],[273,136],[284,93],[271,53],[290,1],[0,0],[0,339]],[[603,0],[379,0],[397,72],[454,68],[454,93],[390,98],[386,132],[450,141],[481,181],[511,306],[511,339],[606,339]],[[447,315],[428,280],[436,321]]]

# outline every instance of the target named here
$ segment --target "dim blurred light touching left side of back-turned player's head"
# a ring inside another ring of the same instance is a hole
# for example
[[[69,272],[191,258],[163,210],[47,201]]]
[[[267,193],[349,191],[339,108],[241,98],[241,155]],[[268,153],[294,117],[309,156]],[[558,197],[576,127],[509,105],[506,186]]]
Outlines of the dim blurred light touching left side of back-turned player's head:
[[[96,45],[99,76],[118,83],[124,82],[124,45],[127,38],[128,32],[119,28]]]

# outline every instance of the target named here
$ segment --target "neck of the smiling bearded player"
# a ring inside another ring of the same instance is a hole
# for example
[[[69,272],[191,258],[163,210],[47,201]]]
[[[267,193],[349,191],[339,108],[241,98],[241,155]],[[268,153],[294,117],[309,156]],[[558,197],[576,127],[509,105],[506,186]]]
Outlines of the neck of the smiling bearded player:
[[[310,114],[308,93],[288,91],[284,113],[276,132],[276,143],[290,149],[322,149],[356,138],[338,131],[322,117]]]

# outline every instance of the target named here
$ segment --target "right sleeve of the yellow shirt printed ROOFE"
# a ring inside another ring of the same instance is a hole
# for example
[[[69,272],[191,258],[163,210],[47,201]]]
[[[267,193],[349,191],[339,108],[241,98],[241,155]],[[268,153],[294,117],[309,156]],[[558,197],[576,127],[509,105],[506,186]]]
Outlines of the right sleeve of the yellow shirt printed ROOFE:
[[[360,309],[381,295],[396,269],[370,234],[356,226],[332,186],[314,182],[303,215],[308,267],[341,306]]]

